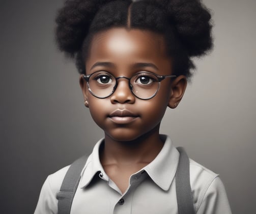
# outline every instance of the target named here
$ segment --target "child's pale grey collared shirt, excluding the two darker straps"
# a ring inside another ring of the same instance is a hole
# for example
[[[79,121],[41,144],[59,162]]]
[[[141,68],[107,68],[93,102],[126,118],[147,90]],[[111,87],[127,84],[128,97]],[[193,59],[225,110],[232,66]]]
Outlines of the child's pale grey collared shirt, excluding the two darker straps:
[[[131,175],[122,194],[100,163],[98,141],[81,172],[71,214],[178,214],[175,173],[179,152],[169,137],[158,156]],[[69,166],[49,175],[42,187],[35,214],[58,213],[59,192]],[[224,186],[217,174],[190,159],[190,184],[196,213],[231,213]]]

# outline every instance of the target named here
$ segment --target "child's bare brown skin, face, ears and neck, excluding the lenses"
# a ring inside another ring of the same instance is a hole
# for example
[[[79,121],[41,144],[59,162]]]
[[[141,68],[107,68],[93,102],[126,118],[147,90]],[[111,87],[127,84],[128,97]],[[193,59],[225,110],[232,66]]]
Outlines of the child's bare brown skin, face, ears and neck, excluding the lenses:
[[[131,77],[137,72],[148,71],[172,75],[172,59],[166,54],[163,36],[149,30],[108,29],[93,37],[89,53],[87,74],[107,71],[115,77]],[[131,93],[128,80],[122,78],[110,97],[99,99],[89,92],[87,82],[80,77],[85,105],[105,134],[100,151],[101,164],[122,193],[129,187],[130,176],[152,162],[162,149],[161,119],[167,106],[177,107],[186,85],[183,75],[166,78],[155,97],[141,100]],[[132,118],[111,117],[111,112],[117,109],[132,112]]]

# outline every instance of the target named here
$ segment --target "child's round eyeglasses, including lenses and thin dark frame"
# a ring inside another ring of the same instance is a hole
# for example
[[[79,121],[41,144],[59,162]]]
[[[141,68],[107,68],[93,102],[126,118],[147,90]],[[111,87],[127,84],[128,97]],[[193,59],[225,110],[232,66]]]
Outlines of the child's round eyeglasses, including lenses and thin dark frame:
[[[100,99],[109,97],[115,92],[118,80],[125,78],[129,80],[129,88],[132,94],[141,100],[153,98],[159,90],[160,82],[166,77],[176,77],[176,75],[161,76],[151,72],[139,72],[128,78],[125,76],[114,77],[106,71],[83,75],[83,78],[87,81],[88,89],[94,97]]]

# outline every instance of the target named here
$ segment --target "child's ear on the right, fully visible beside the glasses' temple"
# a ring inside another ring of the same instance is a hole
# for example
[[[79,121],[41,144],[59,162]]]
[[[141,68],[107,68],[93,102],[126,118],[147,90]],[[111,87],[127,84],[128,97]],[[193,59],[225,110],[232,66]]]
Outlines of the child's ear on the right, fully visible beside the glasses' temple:
[[[172,82],[168,107],[176,108],[180,103],[187,87],[187,79],[184,75],[176,77]]]

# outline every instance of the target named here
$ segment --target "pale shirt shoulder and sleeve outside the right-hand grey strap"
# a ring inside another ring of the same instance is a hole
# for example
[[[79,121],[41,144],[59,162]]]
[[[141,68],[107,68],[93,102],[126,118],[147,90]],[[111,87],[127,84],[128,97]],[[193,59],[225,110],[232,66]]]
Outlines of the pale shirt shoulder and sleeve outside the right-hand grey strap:
[[[224,185],[215,172],[189,159],[196,213],[231,213]]]

